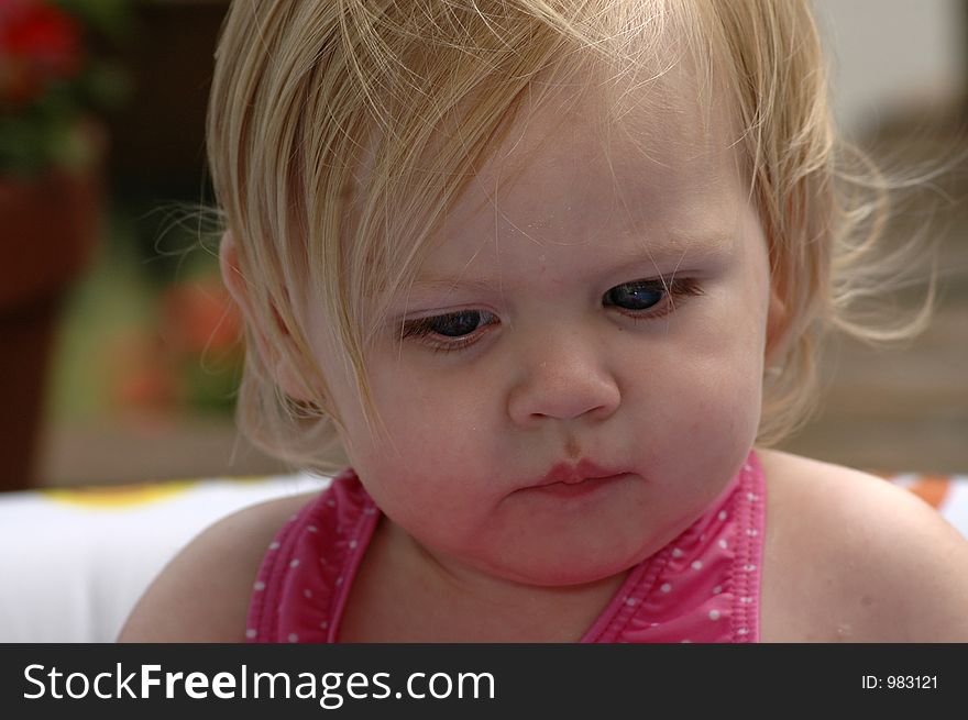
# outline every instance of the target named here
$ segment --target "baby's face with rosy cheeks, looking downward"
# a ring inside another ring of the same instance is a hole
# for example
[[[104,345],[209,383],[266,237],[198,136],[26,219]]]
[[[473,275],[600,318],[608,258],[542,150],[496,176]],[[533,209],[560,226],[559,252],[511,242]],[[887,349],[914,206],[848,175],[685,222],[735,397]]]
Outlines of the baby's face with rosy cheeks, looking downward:
[[[517,122],[367,357],[388,436],[314,339],[363,484],[439,561],[600,579],[684,530],[746,458],[767,245],[732,137],[675,104],[627,114],[638,142],[615,132],[605,152],[585,106]]]

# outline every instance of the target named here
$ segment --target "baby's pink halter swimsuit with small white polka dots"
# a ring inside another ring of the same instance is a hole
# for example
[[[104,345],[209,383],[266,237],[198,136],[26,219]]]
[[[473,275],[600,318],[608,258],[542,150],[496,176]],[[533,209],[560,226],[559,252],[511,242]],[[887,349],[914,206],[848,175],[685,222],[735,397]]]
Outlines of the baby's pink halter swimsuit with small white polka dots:
[[[757,642],[766,485],[750,453],[698,520],[632,568],[581,642]],[[337,642],[380,519],[345,470],[272,542],[249,608],[252,642]]]

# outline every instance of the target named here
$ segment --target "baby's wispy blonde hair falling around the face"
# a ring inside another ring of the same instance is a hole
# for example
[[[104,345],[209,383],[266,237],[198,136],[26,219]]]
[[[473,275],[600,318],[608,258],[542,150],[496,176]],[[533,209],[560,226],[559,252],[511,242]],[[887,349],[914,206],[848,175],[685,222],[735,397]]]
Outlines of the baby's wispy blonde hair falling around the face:
[[[250,348],[260,337],[310,398],[287,396],[274,359],[250,352],[242,430],[294,464],[341,465],[340,418],[311,362],[299,293],[319,292],[372,410],[364,356],[385,302],[413,280],[522,99],[581,87],[595,70],[634,85],[670,58],[727,93],[785,309],[758,442],[806,417],[827,330],[908,332],[850,319],[884,269],[871,259],[882,193],[858,192],[883,184],[842,171],[805,0],[235,0],[216,55],[210,169],[248,288]]]

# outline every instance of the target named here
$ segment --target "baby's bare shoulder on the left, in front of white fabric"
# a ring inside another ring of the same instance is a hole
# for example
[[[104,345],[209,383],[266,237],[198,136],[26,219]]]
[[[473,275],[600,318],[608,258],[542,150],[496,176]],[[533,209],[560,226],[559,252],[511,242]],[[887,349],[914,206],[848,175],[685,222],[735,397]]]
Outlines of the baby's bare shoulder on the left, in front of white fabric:
[[[176,555],[135,605],[118,642],[243,642],[265,550],[315,494],[240,510]]]

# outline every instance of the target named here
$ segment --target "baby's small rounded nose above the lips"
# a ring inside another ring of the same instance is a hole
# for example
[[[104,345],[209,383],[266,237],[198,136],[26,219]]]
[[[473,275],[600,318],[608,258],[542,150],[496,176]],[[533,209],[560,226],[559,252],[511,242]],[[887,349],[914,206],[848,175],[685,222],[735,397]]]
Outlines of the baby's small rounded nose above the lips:
[[[512,420],[522,428],[547,420],[604,420],[622,402],[615,376],[587,341],[546,343],[525,363],[507,407]]]

